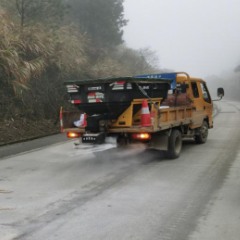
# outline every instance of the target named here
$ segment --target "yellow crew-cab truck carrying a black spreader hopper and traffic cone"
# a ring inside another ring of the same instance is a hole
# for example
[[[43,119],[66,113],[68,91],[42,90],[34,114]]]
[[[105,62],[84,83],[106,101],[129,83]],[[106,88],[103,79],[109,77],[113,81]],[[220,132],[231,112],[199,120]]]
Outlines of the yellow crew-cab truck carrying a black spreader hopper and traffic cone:
[[[206,83],[185,72],[64,83],[77,111],[60,111],[61,131],[80,144],[142,142],[178,158],[184,138],[205,143],[213,128]],[[218,88],[218,96],[224,96]]]

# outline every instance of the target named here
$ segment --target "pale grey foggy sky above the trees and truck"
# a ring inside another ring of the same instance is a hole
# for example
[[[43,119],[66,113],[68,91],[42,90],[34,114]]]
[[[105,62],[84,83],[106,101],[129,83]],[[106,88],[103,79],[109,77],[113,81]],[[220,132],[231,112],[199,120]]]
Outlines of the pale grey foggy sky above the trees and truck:
[[[125,0],[129,47],[151,47],[161,68],[206,77],[240,63],[240,0]]]

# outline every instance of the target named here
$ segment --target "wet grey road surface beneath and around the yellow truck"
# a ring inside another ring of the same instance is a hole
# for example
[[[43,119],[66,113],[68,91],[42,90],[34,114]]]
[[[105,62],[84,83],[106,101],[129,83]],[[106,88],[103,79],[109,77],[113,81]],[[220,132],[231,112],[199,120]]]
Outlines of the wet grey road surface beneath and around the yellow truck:
[[[73,142],[5,154],[0,239],[240,239],[240,103],[217,106],[208,142],[177,160]]]

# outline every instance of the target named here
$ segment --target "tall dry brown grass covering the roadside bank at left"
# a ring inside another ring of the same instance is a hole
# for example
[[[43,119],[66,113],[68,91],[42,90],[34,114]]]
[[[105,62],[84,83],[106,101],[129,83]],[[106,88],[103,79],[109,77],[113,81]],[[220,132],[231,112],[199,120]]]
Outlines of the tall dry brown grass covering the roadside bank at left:
[[[16,95],[46,71],[64,77],[85,69],[87,39],[74,26],[52,30],[35,25],[21,31],[2,10],[0,19],[0,81]]]

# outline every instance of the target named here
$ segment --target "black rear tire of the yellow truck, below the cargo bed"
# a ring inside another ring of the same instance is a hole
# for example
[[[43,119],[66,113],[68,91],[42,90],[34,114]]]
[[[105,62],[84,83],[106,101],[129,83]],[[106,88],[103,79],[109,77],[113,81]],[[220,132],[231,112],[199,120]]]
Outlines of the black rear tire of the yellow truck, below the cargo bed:
[[[182,150],[182,134],[178,130],[173,130],[168,139],[167,156],[169,159],[176,159]]]

